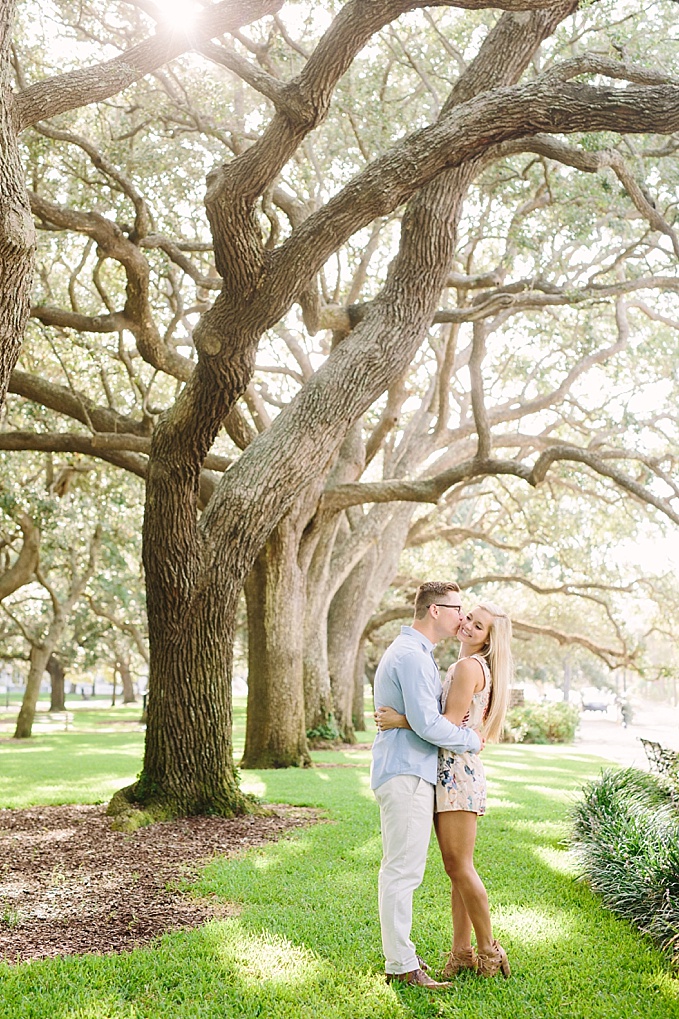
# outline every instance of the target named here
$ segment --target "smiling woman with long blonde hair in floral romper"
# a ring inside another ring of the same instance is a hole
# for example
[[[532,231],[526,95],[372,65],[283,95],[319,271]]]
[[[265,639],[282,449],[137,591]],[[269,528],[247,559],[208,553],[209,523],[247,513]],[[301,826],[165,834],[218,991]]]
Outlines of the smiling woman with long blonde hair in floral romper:
[[[512,680],[512,624],[502,608],[483,602],[461,623],[458,640],[460,657],[443,683],[443,714],[456,726],[480,729],[487,740],[497,740]],[[379,708],[375,719],[380,730],[409,728],[406,716],[388,707]],[[485,774],[478,754],[439,750],[434,827],[452,882],[453,906],[453,949],[446,977],[461,969],[476,970],[481,976],[500,971],[510,975],[507,953],[492,936],[488,897],[474,868],[476,822],[484,813]]]

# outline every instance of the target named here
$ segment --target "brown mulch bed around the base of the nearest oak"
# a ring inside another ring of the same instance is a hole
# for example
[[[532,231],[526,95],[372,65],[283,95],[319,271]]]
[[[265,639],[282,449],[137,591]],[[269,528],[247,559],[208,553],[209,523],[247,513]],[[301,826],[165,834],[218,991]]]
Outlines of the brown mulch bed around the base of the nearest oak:
[[[113,832],[105,806],[0,810],[0,959],[123,952],[238,908],[178,891],[215,855],[313,823],[316,811],[187,817]]]

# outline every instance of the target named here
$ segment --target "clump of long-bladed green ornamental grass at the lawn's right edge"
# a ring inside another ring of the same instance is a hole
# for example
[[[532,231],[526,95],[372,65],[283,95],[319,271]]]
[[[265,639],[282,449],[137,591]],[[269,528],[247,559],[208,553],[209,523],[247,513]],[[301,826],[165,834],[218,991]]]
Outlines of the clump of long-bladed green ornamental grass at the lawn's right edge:
[[[672,788],[635,768],[604,771],[575,807],[573,848],[605,905],[679,964],[679,809]]]

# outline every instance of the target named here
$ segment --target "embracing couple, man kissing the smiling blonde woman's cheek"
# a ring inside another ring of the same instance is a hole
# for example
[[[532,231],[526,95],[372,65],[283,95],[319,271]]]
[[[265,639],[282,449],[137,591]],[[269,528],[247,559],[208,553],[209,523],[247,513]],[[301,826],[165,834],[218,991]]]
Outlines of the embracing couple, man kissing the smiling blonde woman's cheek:
[[[460,657],[442,689],[433,648],[457,637]],[[379,804],[382,862],[379,920],[387,982],[438,989],[411,940],[413,893],[422,881],[433,818],[452,882],[453,947],[446,978],[461,969],[510,975],[493,938],[488,897],[474,868],[476,819],[485,813],[478,754],[498,739],[509,700],[512,626],[490,603],[463,612],[457,584],[422,584],[415,618],[375,673],[371,787]],[[476,950],[472,948],[472,927]]]

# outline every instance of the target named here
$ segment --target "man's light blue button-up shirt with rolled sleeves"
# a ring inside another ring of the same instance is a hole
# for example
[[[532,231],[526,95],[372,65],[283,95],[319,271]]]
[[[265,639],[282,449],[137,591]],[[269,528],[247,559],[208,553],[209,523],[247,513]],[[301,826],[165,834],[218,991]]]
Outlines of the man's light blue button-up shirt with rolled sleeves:
[[[441,685],[433,648],[419,630],[402,627],[377,666],[375,707],[396,708],[406,715],[411,729],[377,733],[372,745],[372,789],[398,774],[416,774],[435,786],[438,747],[458,754],[481,749],[473,730],[454,726],[440,713]]]

